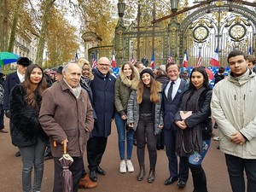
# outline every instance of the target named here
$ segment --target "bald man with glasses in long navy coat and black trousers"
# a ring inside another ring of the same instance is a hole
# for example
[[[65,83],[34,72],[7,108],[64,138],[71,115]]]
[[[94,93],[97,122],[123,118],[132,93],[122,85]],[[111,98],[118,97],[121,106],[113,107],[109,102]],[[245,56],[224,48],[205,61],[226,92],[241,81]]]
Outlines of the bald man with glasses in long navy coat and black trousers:
[[[93,94],[93,108],[96,112],[96,123],[87,143],[87,159],[90,169],[90,180],[97,181],[96,173],[105,175],[106,172],[99,166],[107,146],[108,136],[111,133],[111,122],[114,115],[114,84],[115,78],[109,73],[110,61],[102,57],[90,83]]]

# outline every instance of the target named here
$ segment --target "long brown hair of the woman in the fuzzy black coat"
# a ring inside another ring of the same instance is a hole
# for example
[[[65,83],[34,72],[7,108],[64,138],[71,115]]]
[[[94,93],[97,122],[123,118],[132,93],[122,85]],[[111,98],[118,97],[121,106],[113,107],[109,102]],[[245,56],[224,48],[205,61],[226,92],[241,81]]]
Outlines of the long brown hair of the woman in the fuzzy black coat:
[[[43,78],[41,79],[41,81],[38,83],[38,87],[36,90],[32,89],[32,82],[30,80],[30,75],[33,71],[34,68],[39,68],[42,72]],[[36,106],[36,92],[38,92],[38,94],[40,96],[42,96],[44,90],[47,89],[47,82],[46,79],[44,78],[44,71],[41,67],[39,67],[38,65],[32,64],[30,66],[27,67],[26,69],[26,73],[25,73],[25,81],[22,83],[23,87],[26,90],[26,101],[28,102],[29,105],[31,105],[32,107]]]

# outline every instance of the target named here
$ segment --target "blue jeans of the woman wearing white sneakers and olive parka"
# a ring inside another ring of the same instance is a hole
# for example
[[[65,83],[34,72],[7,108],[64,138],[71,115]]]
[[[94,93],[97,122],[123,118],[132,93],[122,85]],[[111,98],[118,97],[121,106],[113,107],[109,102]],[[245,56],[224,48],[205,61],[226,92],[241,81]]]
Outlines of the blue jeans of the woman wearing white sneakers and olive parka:
[[[127,160],[131,160],[132,148],[133,148],[133,130],[125,131],[125,120],[123,120],[119,113],[114,116],[115,125],[119,134],[119,156],[120,160],[125,160],[125,134],[127,141]]]

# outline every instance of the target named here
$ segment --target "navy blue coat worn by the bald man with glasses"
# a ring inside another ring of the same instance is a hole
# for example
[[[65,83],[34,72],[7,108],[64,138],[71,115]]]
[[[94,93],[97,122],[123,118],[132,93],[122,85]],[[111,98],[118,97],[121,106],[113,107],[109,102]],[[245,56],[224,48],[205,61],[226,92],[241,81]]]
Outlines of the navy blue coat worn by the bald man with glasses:
[[[108,73],[106,77],[96,69],[90,82],[93,94],[93,108],[97,120],[92,131],[93,137],[108,137],[111,134],[111,122],[114,116],[115,78]]]

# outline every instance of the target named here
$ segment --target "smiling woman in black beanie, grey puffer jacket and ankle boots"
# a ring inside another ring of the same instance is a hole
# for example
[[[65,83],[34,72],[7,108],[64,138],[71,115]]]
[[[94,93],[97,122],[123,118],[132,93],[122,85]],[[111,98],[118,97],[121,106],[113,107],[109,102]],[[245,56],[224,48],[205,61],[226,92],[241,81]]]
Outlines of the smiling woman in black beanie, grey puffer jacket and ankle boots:
[[[148,183],[153,183],[157,159],[156,136],[163,128],[161,84],[154,80],[154,73],[149,68],[143,69],[140,77],[137,90],[131,91],[128,100],[127,124],[135,131],[137,138],[137,159],[140,166],[137,181],[143,181],[145,176],[144,156],[147,139],[150,163]]]

